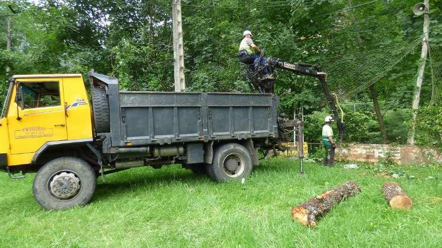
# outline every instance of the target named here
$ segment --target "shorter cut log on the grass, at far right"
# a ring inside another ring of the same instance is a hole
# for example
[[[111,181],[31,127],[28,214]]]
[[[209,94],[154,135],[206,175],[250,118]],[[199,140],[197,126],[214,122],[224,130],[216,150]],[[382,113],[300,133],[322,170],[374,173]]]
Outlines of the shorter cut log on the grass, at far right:
[[[396,182],[386,182],[382,185],[382,193],[388,204],[394,209],[410,209],[413,201]]]

